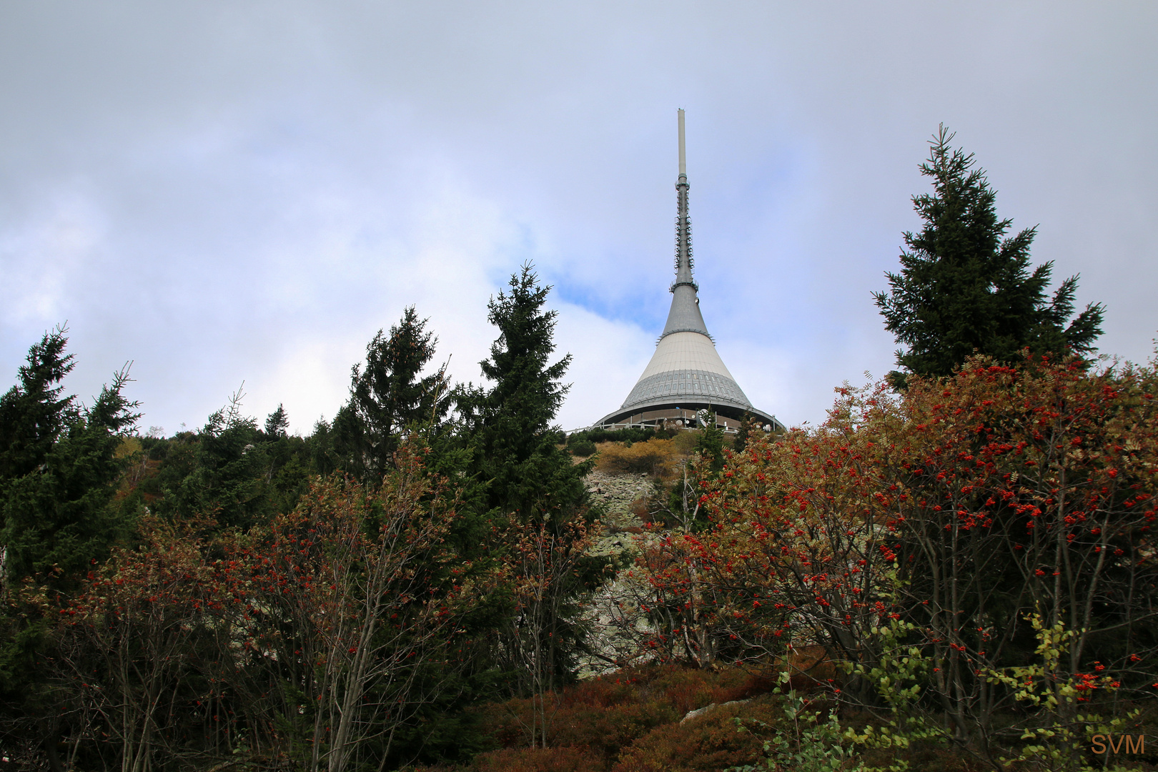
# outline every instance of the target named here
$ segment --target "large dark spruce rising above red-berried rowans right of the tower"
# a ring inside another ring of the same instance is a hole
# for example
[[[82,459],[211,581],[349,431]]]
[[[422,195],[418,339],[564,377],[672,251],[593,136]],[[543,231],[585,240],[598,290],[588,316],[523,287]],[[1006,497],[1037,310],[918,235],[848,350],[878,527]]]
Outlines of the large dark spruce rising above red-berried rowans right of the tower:
[[[901,272],[887,273],[891,292],[873,293],[886,329],[904,348],[896,361],[922,376],[950,375],[974,351],[999,361],[1033,353],[1086,355],[1101,334],[1104,307],[1073,317],[1078,277],[1047,296],[1053,263],[1031,270],[1036,228],[1006,236],[1012,220],[998,220],[996,191],[973,154],[953,148],[944,126],[930,142],[921,174],[933,192],[913,197],[924,220],[906,233]],[[1072,318],[1071,318],[1072,317]],[[902,385],[904,373],[893,373]]]

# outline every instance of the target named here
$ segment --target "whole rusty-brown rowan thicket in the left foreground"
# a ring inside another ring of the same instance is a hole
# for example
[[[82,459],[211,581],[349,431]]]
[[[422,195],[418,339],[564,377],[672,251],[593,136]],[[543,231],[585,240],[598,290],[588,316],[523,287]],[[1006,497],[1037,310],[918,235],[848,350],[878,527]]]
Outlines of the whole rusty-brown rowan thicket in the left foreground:
[[[445,546],[454,498],[422,454],[396,462],[380,488],[318,480],[245,535],[145,521],[60,608],[79,738],[107,737],[100,755],[131,770],[240,745],[310,770],[388,756],[382,727],[461,666],[462,617],[491,579]]]

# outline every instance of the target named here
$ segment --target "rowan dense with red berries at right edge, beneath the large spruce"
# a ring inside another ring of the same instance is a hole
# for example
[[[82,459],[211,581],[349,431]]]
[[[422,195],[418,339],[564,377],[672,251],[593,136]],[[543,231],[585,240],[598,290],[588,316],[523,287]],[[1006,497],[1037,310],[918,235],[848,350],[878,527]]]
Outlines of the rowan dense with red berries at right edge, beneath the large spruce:
[[[1076,635],[1058,675],[1106,669],[1133,697],[1152,692],[1156,387],[1152,366],[1087,373],[1073,359],[969,360],[947,387],[911,387],[903,475],[882,493],[904,517],[887,523],[897,598],[929,631],[959,737],[995,731],[1011,696],[977,674],[1033,652],[1033,613]]]

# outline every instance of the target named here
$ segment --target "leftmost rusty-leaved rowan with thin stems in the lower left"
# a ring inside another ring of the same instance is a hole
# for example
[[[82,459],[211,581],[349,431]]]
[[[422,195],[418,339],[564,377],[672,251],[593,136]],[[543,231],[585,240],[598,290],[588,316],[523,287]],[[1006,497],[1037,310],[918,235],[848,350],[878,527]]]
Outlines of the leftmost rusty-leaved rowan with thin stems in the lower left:
[[[222,678],[234,641],[213,624],[228,598],[192,525],[146,515],[139,544],[115,550],[60,608],[30,596],[59,619],[42,667],[65,719],[52,744],[68,748],[68,767],[188,763],[228,753],[237,736]]]

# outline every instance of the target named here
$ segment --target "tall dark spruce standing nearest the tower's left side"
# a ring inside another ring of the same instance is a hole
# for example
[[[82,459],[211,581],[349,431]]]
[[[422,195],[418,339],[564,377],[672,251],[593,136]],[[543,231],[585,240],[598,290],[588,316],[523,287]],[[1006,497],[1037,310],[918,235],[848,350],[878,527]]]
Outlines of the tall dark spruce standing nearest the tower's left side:
[[[548,580],[543,574],[560,556],[571,554],[574,539],[594,516],[584,484],[594,462],[573,463],[555,425],[569,389],[560,378],[571,356],[551,361],[556,313],[543,308],[550,289],[523,265],[507,291],[491,299],[488,318],[499,336],[481,366],[492,383],[457,394],[472,466],[485,486],[486,519],[499,537],[490,549],[494,554],[511,552],[521,565],[519,554],[527,552],[515,542],[529,534],[541,539],[543,561],[518,569],[528,573],[516,583],[540,586],[543,593],[533,608],[523,606],[504,625],[497,647],[500,667],[512,674],[512,689],[533,696],[573,677],[576,657],[585,647],[578,601],[602,581],[609,565],[606,558],[582,557],[565,575]]]

